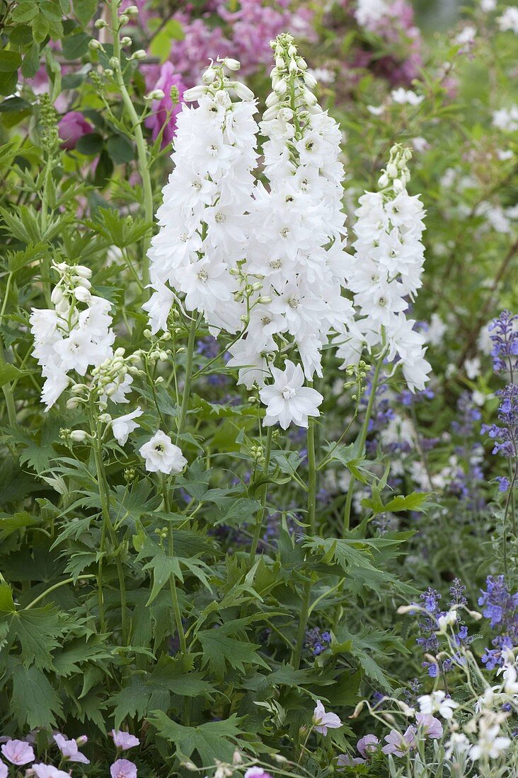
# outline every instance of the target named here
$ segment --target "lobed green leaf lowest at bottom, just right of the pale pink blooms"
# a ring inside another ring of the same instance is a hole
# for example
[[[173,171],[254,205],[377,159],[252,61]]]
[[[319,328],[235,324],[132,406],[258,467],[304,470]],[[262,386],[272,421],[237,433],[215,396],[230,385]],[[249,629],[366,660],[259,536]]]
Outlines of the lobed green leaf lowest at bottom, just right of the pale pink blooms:
[[[241,730],[235,713],[225,721],[208,721],[199,727],[183,727],[171,720],[162,710],[153,710],[147,717],[158,733],[174,744],[178,756],[192,758],[196,752],[203,765],[213,765],[217,759],[231,762],[236,747],[244,748],[239,737]]]

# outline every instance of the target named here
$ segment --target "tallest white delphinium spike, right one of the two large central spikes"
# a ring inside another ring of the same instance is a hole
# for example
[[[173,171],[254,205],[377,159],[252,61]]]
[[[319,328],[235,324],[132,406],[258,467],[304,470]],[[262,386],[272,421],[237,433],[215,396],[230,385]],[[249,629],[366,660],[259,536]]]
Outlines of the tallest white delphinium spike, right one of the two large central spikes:
[[[329,332],[353,315],[345,285],[344,168],[341,133],[322,111],[315,78],[291,35],[272,42],[273,92],[260,124],[264,173],[251,212],[247,270],[263,280],[244,338],[231,349],[239,383],[263,386],[268,363],[296,345],[305,377],[322,375],[321,349]],[[299,422],[296,422],[299,423]],[[303,425],[305,426],[305,425]]]

